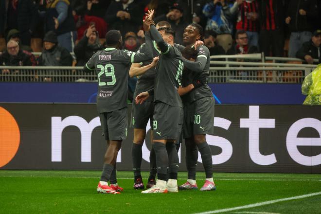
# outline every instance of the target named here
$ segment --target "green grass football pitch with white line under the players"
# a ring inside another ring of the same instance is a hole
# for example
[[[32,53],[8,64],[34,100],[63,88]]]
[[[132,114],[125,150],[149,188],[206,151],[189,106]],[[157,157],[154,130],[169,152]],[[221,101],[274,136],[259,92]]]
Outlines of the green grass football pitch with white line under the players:
[[[103,195],[98,171],[0,170],[0,213],[321,214],[320,174],[214,173],[216,191],[146,195],[133,189],[132,172],[117,177],[124,192]],[[179,172],[178,184],[185,179]]]

